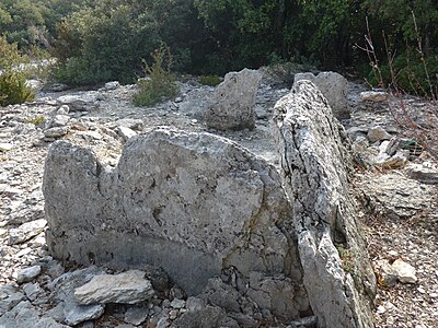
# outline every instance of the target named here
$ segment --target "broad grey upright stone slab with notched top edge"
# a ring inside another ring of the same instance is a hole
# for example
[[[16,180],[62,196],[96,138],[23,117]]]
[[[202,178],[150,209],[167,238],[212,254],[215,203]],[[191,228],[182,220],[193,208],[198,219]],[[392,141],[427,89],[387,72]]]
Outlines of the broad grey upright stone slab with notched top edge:
[[[232,268],[260,308],[286,319],[311,313],[280,177],[228,139],[157,129],[129,139],[114,169],[55,142],[43,190],[57,258],[154,265],[189,295]]]

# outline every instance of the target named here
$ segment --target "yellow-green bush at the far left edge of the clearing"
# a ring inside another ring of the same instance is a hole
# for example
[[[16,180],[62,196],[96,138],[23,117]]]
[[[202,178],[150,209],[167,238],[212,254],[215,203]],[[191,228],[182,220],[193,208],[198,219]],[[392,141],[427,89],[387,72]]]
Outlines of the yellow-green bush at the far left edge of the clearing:
[[[22,56],[16,44],[9,44],[0,36],[0,106],[20,104],[34,98],[34,92],[25,85],[26,73],[19,65],[27,61]]]

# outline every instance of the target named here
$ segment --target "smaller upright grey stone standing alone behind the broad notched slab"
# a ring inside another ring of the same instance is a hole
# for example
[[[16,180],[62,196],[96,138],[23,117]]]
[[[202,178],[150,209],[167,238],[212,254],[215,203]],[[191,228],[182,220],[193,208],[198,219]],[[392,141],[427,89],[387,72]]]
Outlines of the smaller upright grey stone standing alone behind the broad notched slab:
[[[262,74],[255,70],[228,73],[205,114],[207,126],[218,130],[254,129],[255,95],[261,79]]]

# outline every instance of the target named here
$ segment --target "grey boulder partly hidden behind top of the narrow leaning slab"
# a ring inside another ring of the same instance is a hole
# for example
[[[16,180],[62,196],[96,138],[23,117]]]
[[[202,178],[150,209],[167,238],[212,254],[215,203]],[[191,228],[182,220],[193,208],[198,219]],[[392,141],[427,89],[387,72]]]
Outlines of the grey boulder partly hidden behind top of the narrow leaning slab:
[[[322,92],[328,101],[333,115],[337,119],[350,117],[347,99],[348,81],[336,72],[320,72],[316,77],[313,73],[298,73],[295,75],[295,82],[308,80],[311,81]]]

